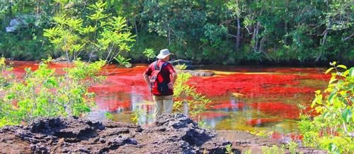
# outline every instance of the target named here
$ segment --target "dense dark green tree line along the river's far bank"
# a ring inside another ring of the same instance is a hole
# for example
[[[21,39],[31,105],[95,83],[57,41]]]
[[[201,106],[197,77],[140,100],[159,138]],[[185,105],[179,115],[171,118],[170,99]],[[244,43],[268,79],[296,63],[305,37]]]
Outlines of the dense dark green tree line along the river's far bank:
[[[166,47],[176,53],[175,58],[200,63],[304,63],[333,59],[350,62],[354,59],[353,0],[105,2],[107,6],[100,8],[101,13],[110,18],[124,17],[135,35],[136,42],[129,44],[131,51],[125,55],[133,61],[146,61],[143,53],[151,56]],[[1,54],[25,60],[61,56],[63,52],[43,35],[45,29],[58,25],[53,20],[58,15],[80,18],[83,26],[101,26],[87,18],[93,12],[89,6],[95,3],[93,0],[0,0]],[[14,19],[20,22],[17,28],[11,27]],[[86,40],[97,37],[78,36]],[[87,50],[93,48],[83,48],[81,57],[88,57],[91,51]]]

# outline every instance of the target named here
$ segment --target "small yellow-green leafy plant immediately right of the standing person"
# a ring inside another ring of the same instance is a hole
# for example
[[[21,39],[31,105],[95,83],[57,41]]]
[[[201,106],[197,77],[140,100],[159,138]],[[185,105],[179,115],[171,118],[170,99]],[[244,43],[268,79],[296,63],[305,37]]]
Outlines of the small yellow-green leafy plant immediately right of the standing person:
[[[195,88],[187,84],[191,76],[190,73],[178,74],[178,78],[173,85],[173,97],[177,100],[173,103],[173,110],[181,112],[183,105],[186,103],[189,107],[188,112],[200,122],[200,114],[205,112],[206,105],[211,101],[207,97],[197,93]]]

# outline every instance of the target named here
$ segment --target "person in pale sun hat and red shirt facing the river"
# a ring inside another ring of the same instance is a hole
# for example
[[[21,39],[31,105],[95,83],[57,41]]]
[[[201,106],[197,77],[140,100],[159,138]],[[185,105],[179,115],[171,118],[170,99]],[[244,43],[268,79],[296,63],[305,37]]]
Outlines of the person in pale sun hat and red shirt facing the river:
[[[144,71],[144,80],[154,100],[154,120],[162,113],[171,113],[173,108],[173,84],[177,73],[168,62],[171,53],[169,49],[161,49],[157,61],[149,65]]]

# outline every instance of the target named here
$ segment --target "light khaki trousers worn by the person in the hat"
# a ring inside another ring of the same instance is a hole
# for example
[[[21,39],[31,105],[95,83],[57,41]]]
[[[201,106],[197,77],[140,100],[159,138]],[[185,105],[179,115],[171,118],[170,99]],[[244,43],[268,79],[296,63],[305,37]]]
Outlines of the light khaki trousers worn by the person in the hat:
[[[173,107],[173,95],[162,95],[157,96],[153,95],[155,111],[154,111],[154,120],[156,117],[162,113],[171,113]],[[164,112],[162,112],[164,110]]]

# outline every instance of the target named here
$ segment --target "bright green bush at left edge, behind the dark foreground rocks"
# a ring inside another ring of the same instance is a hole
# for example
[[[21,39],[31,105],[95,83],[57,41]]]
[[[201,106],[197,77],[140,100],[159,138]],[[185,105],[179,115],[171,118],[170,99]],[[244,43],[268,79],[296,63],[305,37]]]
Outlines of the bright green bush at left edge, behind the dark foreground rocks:
[[[89,86],[103,79],[98,76],[105,61],[86,64],[75,60],[64,68],[64,75],[49,68],[50,59],[38,69],[25,69],[17,79],[0,59],[0,126],[28,123],[37,117],[69,116],[90,112],[95,105]]]

